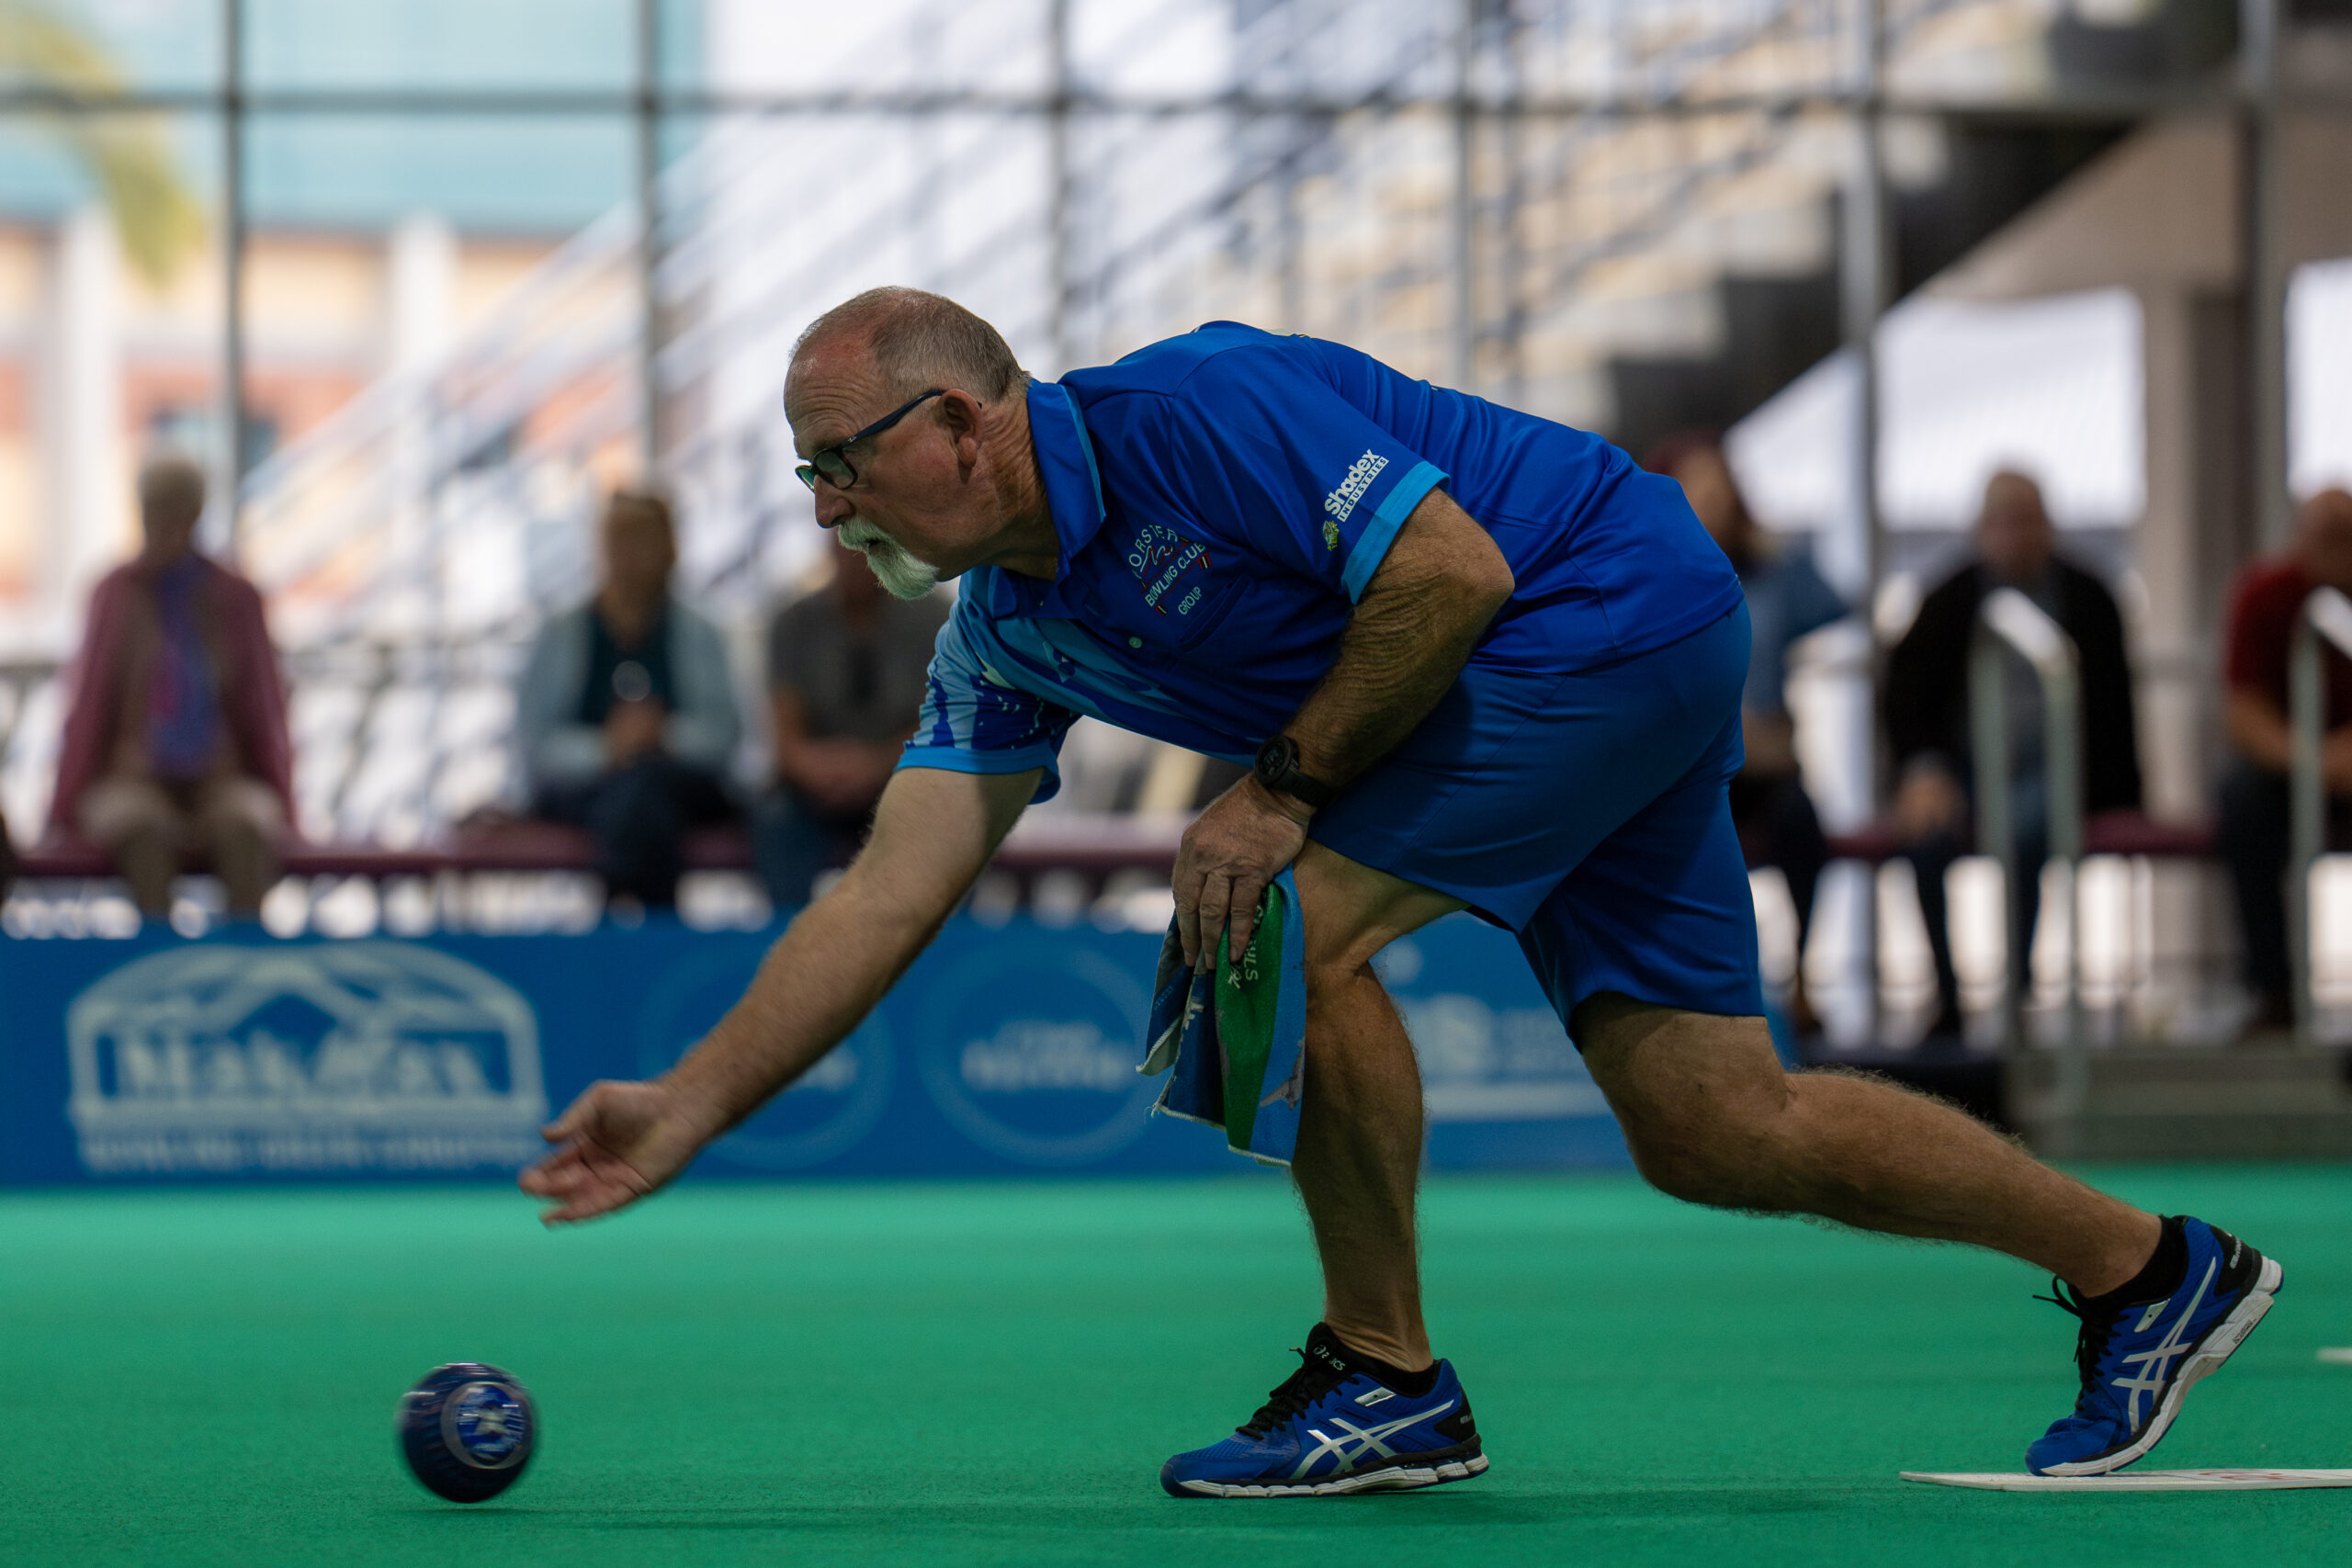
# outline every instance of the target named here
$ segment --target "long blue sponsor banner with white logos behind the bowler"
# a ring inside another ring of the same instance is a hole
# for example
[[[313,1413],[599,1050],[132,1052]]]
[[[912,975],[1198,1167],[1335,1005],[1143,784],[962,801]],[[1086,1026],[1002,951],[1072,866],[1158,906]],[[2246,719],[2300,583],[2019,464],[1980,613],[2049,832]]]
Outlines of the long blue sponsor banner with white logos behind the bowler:
[[[668,1067],[774,933],[0,938],[0,1182],[485,1180],[604,1077]],[[1251,1171],[1150,1117],[1157,936],[955,919],[696,1175]],[[1435,1168],[1625,1164],[1512,940],[1456,917],[1381,966]]]

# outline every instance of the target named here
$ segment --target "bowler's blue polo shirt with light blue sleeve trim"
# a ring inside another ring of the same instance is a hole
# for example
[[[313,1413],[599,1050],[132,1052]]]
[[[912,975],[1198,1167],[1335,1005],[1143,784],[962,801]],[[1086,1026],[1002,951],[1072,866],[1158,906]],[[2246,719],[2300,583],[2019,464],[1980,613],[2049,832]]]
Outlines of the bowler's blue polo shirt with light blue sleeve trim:
[[[1044,799],[1077,715],[1249,762],[1439,484],[1517,578],[1472,663],[1571,675],[1740,602],[1672,480],[1341,343],[1209,322],[1030,383],[1028,414],[1058,576],[964,574],[901,766],[1047,769]]]

